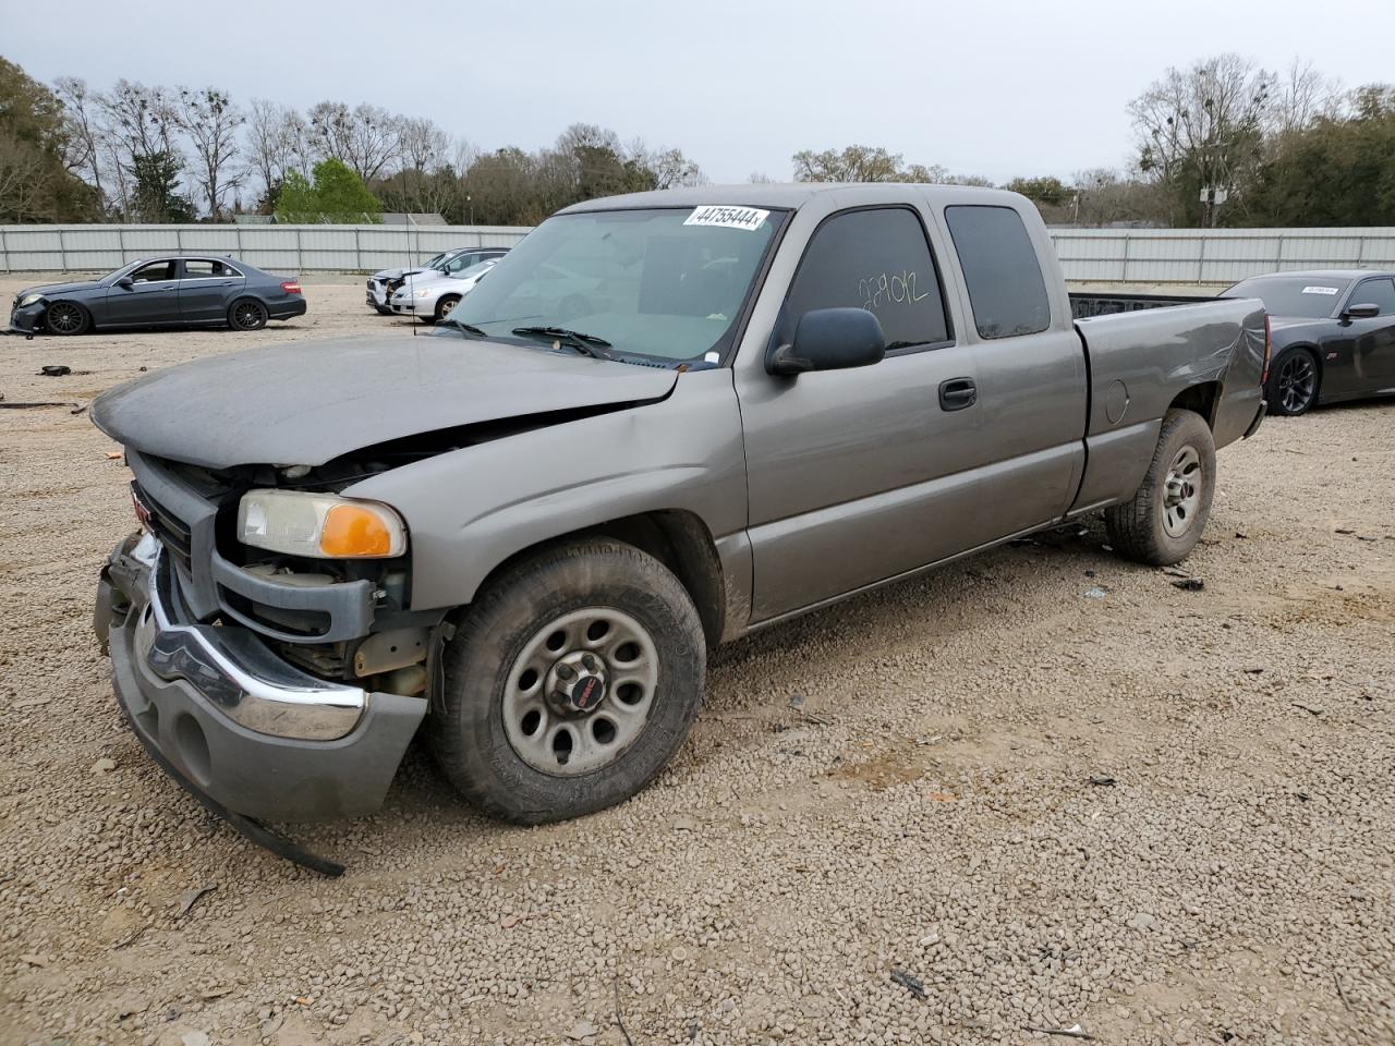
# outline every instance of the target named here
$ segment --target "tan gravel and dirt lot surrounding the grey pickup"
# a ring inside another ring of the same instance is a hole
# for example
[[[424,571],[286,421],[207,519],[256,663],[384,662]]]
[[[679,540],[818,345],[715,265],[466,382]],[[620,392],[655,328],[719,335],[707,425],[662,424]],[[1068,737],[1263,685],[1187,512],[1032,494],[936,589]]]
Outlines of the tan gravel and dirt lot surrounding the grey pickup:
[[[410,336],[307,294],[261,335],[0,339],[0,392]],[[381,814],[301,833],[338,881],[119,721],[89,633],[134,523],[113,449],[0,410],[3,1043],[1395,1040],[1392,403],[1222,452],[1202,591],[1098,527],[1000,549],[723,650],[619,809],[501,827],[410,753]]]

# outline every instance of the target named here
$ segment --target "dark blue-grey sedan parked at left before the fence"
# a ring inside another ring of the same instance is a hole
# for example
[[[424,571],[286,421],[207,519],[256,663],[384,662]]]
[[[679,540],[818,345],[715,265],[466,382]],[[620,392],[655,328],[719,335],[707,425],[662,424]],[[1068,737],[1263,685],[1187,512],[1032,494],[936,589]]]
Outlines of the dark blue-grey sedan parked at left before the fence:
[[[10,329],[80,335],[93,328],[220,326],[258,331],[306,314],[300,283],[213,255],[141,258],[102,279],[21,290]]]

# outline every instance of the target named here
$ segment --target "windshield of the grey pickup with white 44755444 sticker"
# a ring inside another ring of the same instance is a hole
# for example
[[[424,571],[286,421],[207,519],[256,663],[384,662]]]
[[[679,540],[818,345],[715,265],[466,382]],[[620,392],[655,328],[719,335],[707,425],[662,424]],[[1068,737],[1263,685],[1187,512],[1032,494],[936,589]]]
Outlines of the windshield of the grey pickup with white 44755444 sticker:
[[[558,215],[498,259],[451,319],[525,344],[537,339],[515,328],[566,328],[604,339],[612,356],[723,353],[783,220],[752,208]]]

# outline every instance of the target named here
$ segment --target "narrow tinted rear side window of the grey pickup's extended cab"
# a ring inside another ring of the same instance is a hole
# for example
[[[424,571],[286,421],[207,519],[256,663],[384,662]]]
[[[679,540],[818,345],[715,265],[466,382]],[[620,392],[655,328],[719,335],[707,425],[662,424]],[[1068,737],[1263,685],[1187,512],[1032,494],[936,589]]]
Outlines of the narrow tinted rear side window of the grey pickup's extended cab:
[[[947,206],[979,338],[1034,335],[1050,326],[1050,301],[1036,250],[1010,206]]]

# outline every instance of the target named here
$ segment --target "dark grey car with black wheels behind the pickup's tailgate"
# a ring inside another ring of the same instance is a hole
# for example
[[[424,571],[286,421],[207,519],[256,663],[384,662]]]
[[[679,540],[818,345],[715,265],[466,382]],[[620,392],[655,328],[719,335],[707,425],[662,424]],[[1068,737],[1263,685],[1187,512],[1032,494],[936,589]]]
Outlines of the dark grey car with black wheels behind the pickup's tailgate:
[[[1276,272],[1221,297],[1260,298],[1274,356],[1264,396],[1271,414],[1395,395],[1395,273],[1370,269]]]

